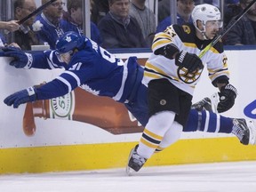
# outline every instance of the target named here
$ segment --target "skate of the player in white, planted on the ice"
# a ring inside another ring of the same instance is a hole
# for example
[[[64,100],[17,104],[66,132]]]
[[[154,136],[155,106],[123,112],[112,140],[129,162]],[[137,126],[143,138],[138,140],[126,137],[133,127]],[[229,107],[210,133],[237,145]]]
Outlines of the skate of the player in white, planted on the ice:
[[[131,176],[133,172],[139,172],[143,164],[146,163],[147,159],[140,156],[137,153],[137,148],[139,145],[136,145],[135,148],[132,148],[130,155],[128,157],[128,164],[126,166],[127,175]]]

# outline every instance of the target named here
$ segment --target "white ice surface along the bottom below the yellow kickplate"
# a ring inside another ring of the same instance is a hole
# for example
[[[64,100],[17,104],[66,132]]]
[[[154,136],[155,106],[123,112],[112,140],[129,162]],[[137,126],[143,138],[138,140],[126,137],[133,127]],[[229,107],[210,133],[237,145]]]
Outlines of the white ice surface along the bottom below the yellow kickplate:
[[[1,192],[256,192],[256,161],[0,175]]]

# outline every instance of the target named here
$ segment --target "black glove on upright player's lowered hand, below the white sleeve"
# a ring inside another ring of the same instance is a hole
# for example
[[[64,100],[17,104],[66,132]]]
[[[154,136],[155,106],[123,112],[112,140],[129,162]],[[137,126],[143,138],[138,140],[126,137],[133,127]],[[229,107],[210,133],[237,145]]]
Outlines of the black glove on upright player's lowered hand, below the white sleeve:
[[[227,84],[222,86],[218,93],[220,102],[218,103],[217,111],[218,113],[223,113],[234,106],[237,91],[232,84]]]

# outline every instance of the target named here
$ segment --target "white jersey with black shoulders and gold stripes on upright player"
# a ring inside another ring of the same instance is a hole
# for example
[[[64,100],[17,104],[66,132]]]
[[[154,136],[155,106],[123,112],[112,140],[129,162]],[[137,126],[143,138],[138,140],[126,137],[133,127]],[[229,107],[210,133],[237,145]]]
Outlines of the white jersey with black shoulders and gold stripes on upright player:
[[[175,44],[180,51],[189,53],[199,53],[210,44],[212,40],[200,40],[196,37],[196,28],[193,24],[188,25],[172,25],[164,30],[164,32],[157,33],[153,44],[152,51],[164,47],[167,44]],[[219,41],[217,44],[204,54],[201,58],[204,66],[207,66],[209,77],[212,82],[220,77],[227,76],[229,79],[227,57],[223,50],[223,44]],[[193,95],[195,85],[198,83],[202,70],[198,70],[193,76],[186,74],[183,69],[180,70],[175,65],[175,60],[170,60],[163,55],[156,55],[152,53],[148,58],[142,83],[148,86],[148,82],[153,79],[166,78],[175,86]],[[186,76],[185,76],[185,75]]]

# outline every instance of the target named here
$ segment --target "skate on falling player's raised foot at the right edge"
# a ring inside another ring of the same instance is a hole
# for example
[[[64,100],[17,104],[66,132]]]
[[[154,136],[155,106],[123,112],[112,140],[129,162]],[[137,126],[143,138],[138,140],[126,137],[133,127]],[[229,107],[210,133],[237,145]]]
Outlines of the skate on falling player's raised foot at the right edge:
[[[244,145],[256,145],[256,124],[252,120],[246,121],[245,119],[233,120],[232,133],[240,140]]]

